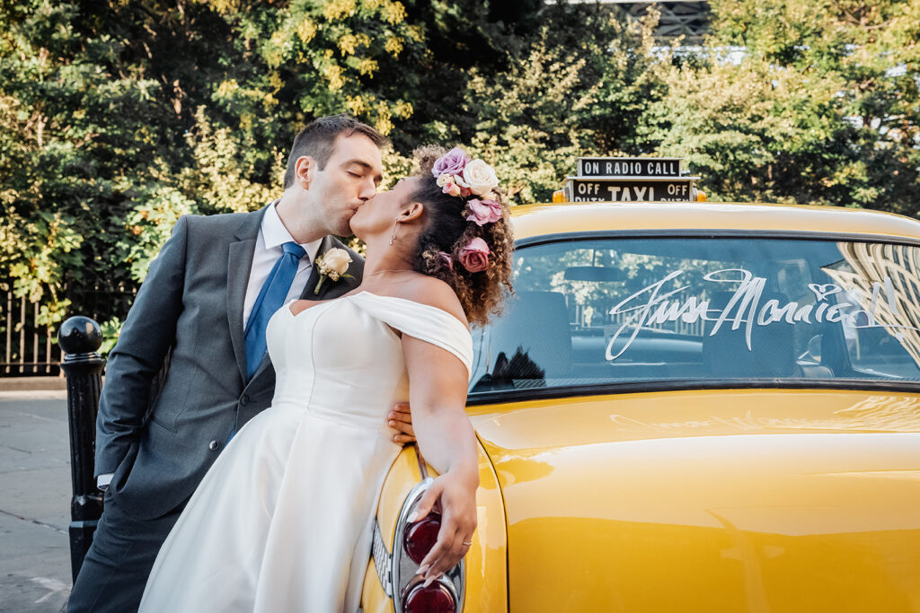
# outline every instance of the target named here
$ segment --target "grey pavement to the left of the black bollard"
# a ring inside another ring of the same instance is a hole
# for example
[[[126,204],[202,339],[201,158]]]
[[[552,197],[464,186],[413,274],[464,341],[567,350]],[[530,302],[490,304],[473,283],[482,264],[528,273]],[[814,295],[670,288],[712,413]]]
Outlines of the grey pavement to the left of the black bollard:
[[[66,393],[0,385],[0,611],[63,607],[71,587],[70,498]]]

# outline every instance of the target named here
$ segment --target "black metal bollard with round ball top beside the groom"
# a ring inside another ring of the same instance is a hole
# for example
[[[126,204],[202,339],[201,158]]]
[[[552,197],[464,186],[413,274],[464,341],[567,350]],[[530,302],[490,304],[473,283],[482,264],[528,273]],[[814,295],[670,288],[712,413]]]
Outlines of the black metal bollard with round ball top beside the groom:
[[[99,324],[77,315],[61,325],[58,344],[64,352],[61,368],[67,376],[67,415],[70,422],[70,472],[74,497],[70,504],[70,563],[76,580],[102,516],[102,493],[93,476],[96,413],[105,360]]]

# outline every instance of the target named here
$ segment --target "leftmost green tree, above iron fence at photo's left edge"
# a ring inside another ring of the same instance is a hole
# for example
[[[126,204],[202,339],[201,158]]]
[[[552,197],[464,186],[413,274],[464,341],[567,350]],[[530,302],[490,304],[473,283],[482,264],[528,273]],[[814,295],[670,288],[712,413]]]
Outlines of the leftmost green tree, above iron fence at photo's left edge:
[[[120,43],[85,37],[77,14],[52,2],[0,12],[0,269],[17,295],[43,300],[48,322],[66,306],[65,277],[108,262],[125,187],[153,180],[139,161],[169,149],[155,134],[170,112],[159,84],[113,74]]]

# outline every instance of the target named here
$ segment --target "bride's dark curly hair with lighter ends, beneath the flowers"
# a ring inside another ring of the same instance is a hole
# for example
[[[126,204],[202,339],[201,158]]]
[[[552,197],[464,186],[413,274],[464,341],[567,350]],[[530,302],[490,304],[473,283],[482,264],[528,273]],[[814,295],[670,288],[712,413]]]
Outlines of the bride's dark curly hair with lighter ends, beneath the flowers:
[[[431,175],[435,161],[444,153],[443,148],[435,145],[420,147],[414,153],[415,176],[420,179],[420,187],[411,199],[424,204],[428,216],[428,225],[419,236],[414,266],[454,289],[470,324],[486,324],[490,315],[501,311],[503,299],[512,291],[513,238],[508,205],[495,189],[501,219],[482,226],[466,221],[469,199],[443,193]],[[470,272],[460,263],[459,255],[461,248],[477,237],[489,245],[489,267]]]

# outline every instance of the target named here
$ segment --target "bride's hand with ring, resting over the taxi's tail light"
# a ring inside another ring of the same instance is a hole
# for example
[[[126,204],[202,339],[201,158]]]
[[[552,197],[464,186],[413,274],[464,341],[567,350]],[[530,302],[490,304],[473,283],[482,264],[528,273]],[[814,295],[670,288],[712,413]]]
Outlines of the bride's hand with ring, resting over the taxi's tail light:
[[[415,508],[413,522],[426,517],[440,500],[441,529],[438,540],[421,561],[419,574],[424,575],[426,585],[442,573],[454,568],[469,551],[476,531],[476,488],[479,475],[476,471],[448,471],[437,477],[422,494]]]

